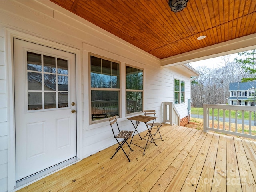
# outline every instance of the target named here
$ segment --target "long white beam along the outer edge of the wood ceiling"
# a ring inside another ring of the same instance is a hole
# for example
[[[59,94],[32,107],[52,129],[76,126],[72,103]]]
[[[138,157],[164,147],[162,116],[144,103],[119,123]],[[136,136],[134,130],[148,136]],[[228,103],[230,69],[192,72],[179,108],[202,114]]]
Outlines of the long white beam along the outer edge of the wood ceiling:
[[[164,58],[161,60],[160,66],[170,67],[252,49],[256,49],[256,34],[251,34],[169,58]]]

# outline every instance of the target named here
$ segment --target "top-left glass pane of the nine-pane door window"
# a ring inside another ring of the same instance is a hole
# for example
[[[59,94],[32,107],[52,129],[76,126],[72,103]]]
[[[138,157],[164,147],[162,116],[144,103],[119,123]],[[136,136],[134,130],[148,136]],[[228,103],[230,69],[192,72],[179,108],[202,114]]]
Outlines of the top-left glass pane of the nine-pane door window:
[[[42,71],[41,54],[27,52],[27,69],[31,71]]]

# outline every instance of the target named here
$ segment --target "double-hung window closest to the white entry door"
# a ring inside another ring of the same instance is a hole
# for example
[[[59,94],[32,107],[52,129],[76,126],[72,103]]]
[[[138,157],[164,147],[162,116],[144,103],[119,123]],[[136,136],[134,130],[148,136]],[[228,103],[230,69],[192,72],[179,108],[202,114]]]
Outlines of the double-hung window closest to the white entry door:
[[[119,115],[120,62],[90,55],[92,121]]]

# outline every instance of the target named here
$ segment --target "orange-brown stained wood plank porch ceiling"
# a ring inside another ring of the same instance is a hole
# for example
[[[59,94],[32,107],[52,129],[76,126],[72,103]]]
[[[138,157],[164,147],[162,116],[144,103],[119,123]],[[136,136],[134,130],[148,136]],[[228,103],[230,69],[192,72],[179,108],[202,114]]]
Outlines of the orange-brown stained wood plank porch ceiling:
[[[256,0],[50,1],[160,59],[256,33]]]

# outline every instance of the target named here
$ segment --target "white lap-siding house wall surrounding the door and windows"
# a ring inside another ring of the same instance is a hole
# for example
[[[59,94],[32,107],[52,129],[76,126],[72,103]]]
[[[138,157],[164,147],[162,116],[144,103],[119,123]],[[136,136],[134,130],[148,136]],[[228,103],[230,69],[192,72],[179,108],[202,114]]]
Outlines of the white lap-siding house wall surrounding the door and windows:
[[[105,56],[121,62],[121,100],[122,118],[118,119],[121,128],[131,129],[132,124],[125,116],[125,65],[137,66],[144,69],[144,109],[155,109],[158,121],[162,121],[162,102],[173,102],[174,78],[185,81],[185,104],[177,105],[181,118],[187,115],[187,100],[190,98],[190,74],[186,68],[175,66],[172,68],[160,68],[160,60],[146,52],[124,42],[123,40],[105,32],[101,28],[82,20],[78,16],[60,8],[50,1],[1,1],[0,2],[0,191],[12,190],[9,183],[7,189],[7,166],[8,166],[8,142],[14,142],[14,138],[8,137],[8,132],[13,130],[12,124],[7,122],[8,91],[6,90],[6,79],[8,77],[6,68],[11,70],[12,64],[6,63],[4,28],[14,29],[25,34],[40,37],[46,40],[64,44],[80,50],[77,89],[80,90],[77,105],[80,106],[78,113],[78,132],[81,141],[78,144],[80,150],[79,158],[90,156],[111,146],[115,143],[108,122],[89,124],[89,102],[88,102],[88,52]],[[7,48],[8,49],[8,48]],[[180,74],[180,71],[183,71]],[[9,83],[8,83],[9,84]],[[12,89],[12,87],[10,87]],[[9,92],[10,93],[10,92]],[[10,102],[13,102],[10,100]],[[139,130],[145,130],[140,124]],[[14,149],[10,149],[14,151]],[[10,164],[14,162],[9,162]],[[11,174],[12,175],[12,174]],[[15,179],[15,178],[13,178]],[[10,181],[10,177],[9,177]],[[12,181],[11,181],[12,182]],[[13,181],[14,182],[14,181]]]

